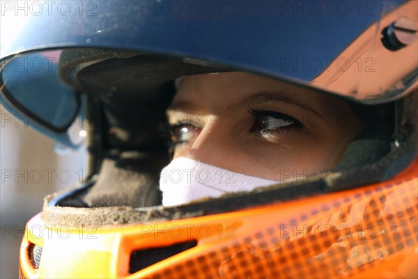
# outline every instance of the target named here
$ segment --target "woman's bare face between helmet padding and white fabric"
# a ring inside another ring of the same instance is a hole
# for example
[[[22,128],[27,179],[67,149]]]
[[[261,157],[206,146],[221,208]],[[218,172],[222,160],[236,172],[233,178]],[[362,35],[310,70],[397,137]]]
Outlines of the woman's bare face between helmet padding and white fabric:
[[[244,72],[178,80],[173,158],[283,181],[331,169],[362,121],[332,96]]]

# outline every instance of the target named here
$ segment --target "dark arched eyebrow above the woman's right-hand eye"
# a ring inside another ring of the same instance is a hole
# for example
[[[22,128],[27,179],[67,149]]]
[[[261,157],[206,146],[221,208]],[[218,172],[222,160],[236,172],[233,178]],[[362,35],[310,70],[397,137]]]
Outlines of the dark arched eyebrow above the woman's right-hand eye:
[[[251,94],[250,96],[246,96],[244,98],[241,98],[237,101],[237,103],[229,106],[228,108],[233,110],[235,107],[251,107],[254,103],[268,103],[268,102],[274,102],[274,103],[286,103],[286,104],[292,104],[297,107],[302,107],[304,110],[309,110],[310,112],[313,112],[317,116],[323,119],[323,116],[321,116],[318,113],[318,110],[314,109],[314,107],[311,107],[307,103],[302,102],[301,100],[298,100],[297,98],[293,97],[291,93],[287,93],[286,91],[259,91],[256,93]]]

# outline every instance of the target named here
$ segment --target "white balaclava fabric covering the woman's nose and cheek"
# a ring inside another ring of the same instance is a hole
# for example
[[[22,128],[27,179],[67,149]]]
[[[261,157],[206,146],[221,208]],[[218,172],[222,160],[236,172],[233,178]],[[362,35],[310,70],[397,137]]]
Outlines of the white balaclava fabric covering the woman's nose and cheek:
[[[163,206],[187,204],[196,199],[251,191],[277,183],[184,157],[172,160],[160,175]]]

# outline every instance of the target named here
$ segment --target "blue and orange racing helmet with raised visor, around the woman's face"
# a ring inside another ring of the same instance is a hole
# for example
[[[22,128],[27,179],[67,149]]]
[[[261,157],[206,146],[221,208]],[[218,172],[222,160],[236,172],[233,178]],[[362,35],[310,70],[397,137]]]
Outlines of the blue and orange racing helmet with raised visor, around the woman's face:
[[[417,1],[1,5],[1,104],[91,169],[29,220],[21,278],[417,277]],[[163,206],[176,80],[235,71],[365,128],[332,169]]]

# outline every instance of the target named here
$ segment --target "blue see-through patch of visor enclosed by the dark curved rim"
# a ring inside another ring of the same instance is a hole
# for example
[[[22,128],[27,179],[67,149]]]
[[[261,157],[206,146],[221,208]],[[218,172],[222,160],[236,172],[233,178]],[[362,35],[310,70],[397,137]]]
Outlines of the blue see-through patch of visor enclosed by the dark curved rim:
[[[8,61],[1,72],[2,91],[24,114],[44,126],[62,130],[71,125],[79,102],[75,91],[59,80],[58,57],[54,54],[27,54]]]

